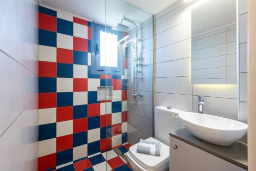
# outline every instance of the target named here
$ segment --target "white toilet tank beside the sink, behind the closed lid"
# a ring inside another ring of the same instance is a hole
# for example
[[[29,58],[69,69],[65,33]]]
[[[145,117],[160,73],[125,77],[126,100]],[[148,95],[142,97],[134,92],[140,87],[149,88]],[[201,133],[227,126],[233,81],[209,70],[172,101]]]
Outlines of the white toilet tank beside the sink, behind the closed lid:
[[[166,145],[169,145],[169,132],[178,130],[182,127],[179,120],[177,109],[167,109],[165,106],[155,108],[155,138]]]

